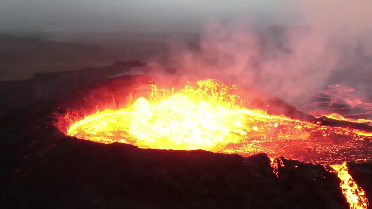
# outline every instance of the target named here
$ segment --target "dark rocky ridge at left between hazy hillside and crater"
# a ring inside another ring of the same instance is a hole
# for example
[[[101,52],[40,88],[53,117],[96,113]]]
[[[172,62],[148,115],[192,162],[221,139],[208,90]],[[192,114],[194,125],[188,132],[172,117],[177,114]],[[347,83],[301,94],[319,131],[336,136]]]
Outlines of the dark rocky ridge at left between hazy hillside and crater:
[[[0,82],[0,115],[39,100],[59,100],[94,82],[126,74],[146,64],[118,61],[112,66],[81,70],[37,73],[32,79]]]

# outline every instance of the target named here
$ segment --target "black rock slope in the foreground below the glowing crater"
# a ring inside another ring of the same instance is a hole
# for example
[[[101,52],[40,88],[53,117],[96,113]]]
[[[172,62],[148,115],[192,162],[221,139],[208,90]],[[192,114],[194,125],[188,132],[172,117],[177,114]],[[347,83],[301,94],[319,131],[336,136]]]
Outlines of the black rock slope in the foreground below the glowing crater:
[[[1,208],[349,208],[330,167],[280,158],[276,176],[266,154],[100,144],[62,133],[64,111],[39,102],[0,119]],[[372,164],[348,167],[372,200]]]

